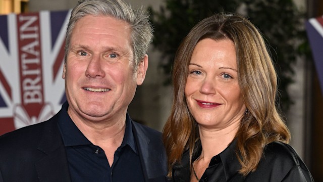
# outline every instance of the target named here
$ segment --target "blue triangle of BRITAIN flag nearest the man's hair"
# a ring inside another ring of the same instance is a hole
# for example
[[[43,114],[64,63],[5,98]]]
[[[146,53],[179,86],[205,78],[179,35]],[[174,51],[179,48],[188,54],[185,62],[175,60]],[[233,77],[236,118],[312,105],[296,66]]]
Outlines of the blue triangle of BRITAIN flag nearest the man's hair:
[[[68,11],[50,12],[51,48],[54,46],[56,39],[64,26],[67,14]]]

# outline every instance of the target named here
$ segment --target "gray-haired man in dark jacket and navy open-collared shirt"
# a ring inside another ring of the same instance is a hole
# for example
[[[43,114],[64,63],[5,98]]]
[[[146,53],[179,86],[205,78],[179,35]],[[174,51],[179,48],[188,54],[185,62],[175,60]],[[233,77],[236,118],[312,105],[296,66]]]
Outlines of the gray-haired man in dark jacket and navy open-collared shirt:
[[[127,114],[152,29],[121,0],[85,0],[67,28],[67,102],[48,121],[0,138],[0,181],[165,181],[159,132]]]

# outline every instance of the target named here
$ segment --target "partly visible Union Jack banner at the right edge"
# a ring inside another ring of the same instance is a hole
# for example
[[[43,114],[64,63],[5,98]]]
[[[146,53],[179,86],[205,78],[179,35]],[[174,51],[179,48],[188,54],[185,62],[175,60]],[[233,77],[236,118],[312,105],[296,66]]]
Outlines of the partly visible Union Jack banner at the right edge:
[[[323,16],[309,19],[305,26],[323,94]]]

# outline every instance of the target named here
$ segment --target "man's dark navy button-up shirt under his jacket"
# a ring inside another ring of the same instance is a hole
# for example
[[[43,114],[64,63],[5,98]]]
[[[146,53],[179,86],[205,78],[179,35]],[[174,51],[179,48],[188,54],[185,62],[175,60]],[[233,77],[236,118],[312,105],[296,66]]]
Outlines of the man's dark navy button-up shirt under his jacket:
[[[67,108],[68,104],[65,103],[64,111]],[[64,114],[66,119],[60,120],[58,124],[72,181],[144,181],[129,117],[126,119],[124,139],[110,167],[104,151],[83,135],[67,112]]]

